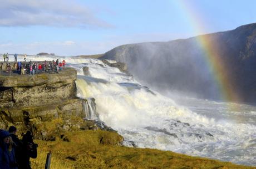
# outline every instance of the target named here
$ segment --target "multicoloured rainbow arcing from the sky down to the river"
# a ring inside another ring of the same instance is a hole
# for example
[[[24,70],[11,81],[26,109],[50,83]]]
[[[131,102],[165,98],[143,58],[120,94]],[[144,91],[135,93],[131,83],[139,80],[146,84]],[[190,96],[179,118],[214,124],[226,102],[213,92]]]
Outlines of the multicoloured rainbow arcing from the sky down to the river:
[[[171,5],[177,7],[181,14],[185,15],[184,18],[187,19],[190,27],[193,29],[194,33],[202,34],[205,32],[204,25],[202,24],[203,19],[200,15],[196,13],[195,8],[193,8],[191,1],[170,1]],[[207,34],[198,35],[196,37],[197,42],[204,50],[205,61],[211,72],[213,72],[213,78],[218,86],[221,99],[224,101],[235,101],[240,102],[239,95],[237,94],[234,85],[235,81],[229,76],[228,67],[225,65],[223,58],[218,53],[217,45],[211,43],[211,40]]]

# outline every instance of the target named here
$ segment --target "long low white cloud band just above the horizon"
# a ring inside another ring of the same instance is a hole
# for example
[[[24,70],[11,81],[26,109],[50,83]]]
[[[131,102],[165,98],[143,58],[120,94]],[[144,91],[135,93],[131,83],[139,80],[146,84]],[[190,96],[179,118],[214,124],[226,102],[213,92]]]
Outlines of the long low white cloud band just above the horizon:
[[[54,42],[33,42],[33,43],[0,43],[0,51],[2,53],[27,53],[37,54],[40,52],[55,53],[56,55],[88,55],[105,53],[112,48],[122,44],[141,43],[141,42],[155,42],[155,41],[169,41],[176,39],[176,36],[188,38],[190,35],[177,35],[177,34],[127,34],[115,35],[107,34],[101,40],[83,40],[77,42],[74,39],[67,39],[63,41]],[[185,37],[184,37],[185,36]]]

